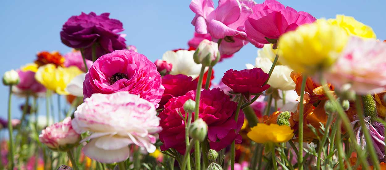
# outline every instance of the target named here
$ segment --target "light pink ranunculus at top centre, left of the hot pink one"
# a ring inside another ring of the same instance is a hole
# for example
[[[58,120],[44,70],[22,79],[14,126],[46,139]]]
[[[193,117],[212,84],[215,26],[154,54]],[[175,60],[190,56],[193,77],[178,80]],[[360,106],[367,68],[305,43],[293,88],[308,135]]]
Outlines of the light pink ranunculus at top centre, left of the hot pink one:
[[[248,43],[244,22],[254,4],[253,0],[219,0],[215,9],[212,0],[192,0],[189,7],[196,16],[191,23],[197,33],[209,33],[212,41],[223,39],[220,53],[231,55]]]

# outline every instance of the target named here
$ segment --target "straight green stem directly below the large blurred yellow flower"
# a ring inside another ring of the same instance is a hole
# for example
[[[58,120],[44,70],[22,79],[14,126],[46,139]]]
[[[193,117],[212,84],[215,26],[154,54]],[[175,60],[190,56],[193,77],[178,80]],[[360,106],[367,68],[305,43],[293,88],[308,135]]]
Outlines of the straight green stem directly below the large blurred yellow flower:
[[[306,80],[307,77],[303,75],[303,81],[301,82],[301,89],[300,89],[300,107],[299,107],[299,155],[298,155],[298,162],[299,164],[299,170],[303,170],[303,98],[304,98],[304,89],[306,87]]]

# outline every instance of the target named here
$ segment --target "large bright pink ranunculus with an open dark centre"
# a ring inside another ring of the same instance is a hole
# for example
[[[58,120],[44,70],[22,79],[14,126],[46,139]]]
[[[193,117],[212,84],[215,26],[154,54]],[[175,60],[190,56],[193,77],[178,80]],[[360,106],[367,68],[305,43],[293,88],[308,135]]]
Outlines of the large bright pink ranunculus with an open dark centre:
[[[98,58],[86,74],[83,95],[110,94],[127,91],[139,94],[155,107],[161,100],[164,87],[156,65],[146,56],[131,50],[116,50]]]

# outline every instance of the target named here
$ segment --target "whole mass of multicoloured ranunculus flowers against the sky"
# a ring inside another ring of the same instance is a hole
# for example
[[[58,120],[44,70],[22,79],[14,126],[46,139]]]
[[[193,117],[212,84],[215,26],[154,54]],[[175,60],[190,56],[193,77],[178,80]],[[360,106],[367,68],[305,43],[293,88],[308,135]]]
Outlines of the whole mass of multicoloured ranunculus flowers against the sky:
[[[342,158],[351,153],[357,165],[369,167],[362,149],[374,168],[385,166],[379,163],[386,154],[379,117],[386,115],[386,43],[371,27],[344,15],[316,19],[276,0],[220,0],[216,8],[212,0],[192,0],[190,9],[196,15],[189,48],[167,51],[155,62],[125,44],[119,20],[90,12],[63,25],[61,41],[72,52],[43,51],[34,63],[5,73],[3,83],[27,104],[44,94],[48,101],[54,92],[77,106],[43,129],[39,142],[66,151],[75,169],[76,147],[121,169],[130,165],[131,153],[139,169],[140,150],[161,150],[172,160],[168,166],[175,160],[182,170],[193,164],[210,170],[343,168],[356,165]],[[213,66],[248,42],[262,48],[256,65],[230,69],[212,83]],[[303,142],[318,143],[315,165]],[[263,146],[270,150],[263,153]],[[10,141],[11,169],[12,148]],[[332,160],[335,149],[339,156]],[[267,153],[271,160],[263,161]]]

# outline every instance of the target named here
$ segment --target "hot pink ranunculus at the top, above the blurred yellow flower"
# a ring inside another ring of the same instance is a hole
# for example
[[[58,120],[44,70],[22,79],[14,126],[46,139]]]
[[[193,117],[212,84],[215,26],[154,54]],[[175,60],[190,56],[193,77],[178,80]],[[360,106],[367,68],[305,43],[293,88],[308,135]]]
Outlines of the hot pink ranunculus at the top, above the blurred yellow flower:
[[[298,26],[316,21],[307,12],[284,7],[276,0],[266,0],[252,7],[253,14],[245,21],[245,32],[249,42],[257,48],[269,44],[269,39],[278,39],[281,34],[293,31]]]

